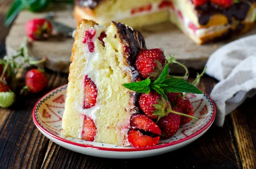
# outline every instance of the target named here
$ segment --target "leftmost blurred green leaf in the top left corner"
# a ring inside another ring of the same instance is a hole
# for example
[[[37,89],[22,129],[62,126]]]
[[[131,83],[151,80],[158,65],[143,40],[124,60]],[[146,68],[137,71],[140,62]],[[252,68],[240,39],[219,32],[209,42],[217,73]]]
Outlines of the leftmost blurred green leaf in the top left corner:
[[[4,25],[9,26],[17,16],[17,14],[25,7],[26,7],[26,4],[22,3],[21,0],[15,0],[15,2],[12,4],[11,8],[6,14],[6,20]]]

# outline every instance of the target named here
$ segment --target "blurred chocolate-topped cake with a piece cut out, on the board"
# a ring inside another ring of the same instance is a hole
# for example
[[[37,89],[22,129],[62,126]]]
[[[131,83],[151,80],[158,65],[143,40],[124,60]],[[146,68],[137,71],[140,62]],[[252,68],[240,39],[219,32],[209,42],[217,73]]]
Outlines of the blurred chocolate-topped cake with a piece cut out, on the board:
[[[76,0],[74,17],[131,27],[170,21],[195,43],[228,38],[253,27],[256,0]]]

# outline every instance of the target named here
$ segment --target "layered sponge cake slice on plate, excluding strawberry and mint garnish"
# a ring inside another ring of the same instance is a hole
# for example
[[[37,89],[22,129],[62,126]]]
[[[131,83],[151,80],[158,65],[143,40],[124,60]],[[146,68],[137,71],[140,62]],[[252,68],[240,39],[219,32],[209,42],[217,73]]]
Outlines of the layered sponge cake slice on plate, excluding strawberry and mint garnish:
[[[122,23],[108,29],[81,20],[75,33],[62,134],[128,146],[131,115],[138,113],[138,93],[123,83],[140,79],[133,60],[145,49],[140,32]]]

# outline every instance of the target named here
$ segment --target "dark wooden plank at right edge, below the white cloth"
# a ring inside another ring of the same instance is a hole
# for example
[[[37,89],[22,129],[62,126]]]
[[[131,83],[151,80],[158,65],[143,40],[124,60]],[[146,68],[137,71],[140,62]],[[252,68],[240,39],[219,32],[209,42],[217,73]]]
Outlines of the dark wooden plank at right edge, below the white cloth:
[[[232,114],[234,136],[244,169],[256,168],[256,96],[247,99]]]

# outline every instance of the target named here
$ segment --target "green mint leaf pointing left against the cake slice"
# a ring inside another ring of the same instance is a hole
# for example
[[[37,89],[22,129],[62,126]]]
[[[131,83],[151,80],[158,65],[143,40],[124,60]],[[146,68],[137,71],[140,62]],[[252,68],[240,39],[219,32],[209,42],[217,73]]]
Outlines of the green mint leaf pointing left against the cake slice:
[[[149,93],[150,92],[150,84],[151,80],[147,78],[146,80],[142,80],[139,82],[132,82],[132,83],[124,83],[122,86],[124,86],[127,89],[133,90],[135,92],[139,93]]]

